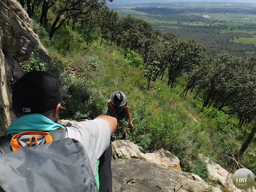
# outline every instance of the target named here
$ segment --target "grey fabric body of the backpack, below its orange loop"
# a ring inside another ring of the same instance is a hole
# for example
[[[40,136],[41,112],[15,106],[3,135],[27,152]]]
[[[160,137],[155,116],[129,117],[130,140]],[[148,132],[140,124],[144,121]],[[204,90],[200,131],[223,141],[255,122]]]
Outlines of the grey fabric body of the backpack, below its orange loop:
[[[0,191],[98,191],[83,145],[71,138],[0,154],[0,186]]]

